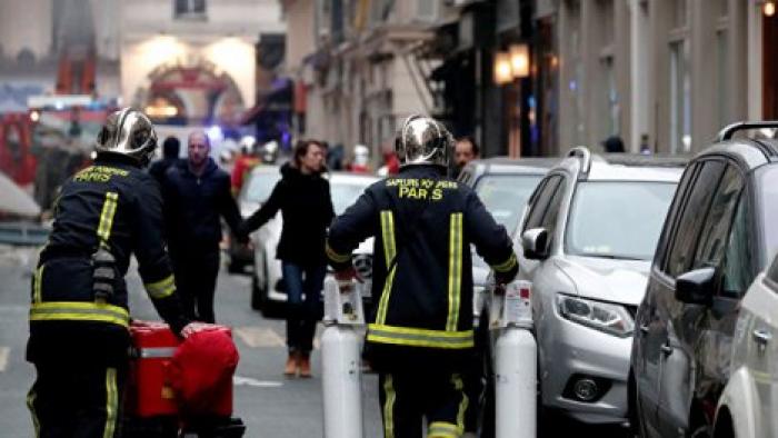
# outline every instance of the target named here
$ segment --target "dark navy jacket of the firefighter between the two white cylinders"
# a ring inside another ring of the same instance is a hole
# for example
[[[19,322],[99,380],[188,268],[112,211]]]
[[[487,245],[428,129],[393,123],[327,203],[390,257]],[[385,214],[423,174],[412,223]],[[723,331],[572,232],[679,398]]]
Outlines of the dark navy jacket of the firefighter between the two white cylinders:
[[[470,245],[509,281],[518,263],[505,228],[469,187],[437,167],[411,166],[370,186],[335,220],[326,248],[332,267],[348,268],[370,236],[366,358],[379,371],[461,370],[473,347]]]

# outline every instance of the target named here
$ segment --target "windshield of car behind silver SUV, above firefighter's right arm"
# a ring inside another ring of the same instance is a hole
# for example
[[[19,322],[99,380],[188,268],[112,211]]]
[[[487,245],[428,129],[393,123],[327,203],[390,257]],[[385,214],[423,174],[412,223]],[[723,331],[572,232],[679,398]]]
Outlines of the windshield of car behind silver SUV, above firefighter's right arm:
[[[540,175],[486,175],[476,183],[476,193],[495,220],[512,233],[527,199],[538,186]]]

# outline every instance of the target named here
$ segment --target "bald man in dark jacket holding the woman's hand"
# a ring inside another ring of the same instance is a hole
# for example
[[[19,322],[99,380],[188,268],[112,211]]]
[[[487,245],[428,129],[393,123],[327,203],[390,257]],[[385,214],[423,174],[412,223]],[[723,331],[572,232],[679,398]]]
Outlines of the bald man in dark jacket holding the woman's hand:
[[[230,176],[209,157],[208,136],[192,132],[187,150],[188,159],[171,166],[162,180],[168,249],[176,286],[184,291],[181,298],[187,315],[212,323],[221,241],[219,217],[241,242],[248,238],[238,230],[241,218],[230,192]]]

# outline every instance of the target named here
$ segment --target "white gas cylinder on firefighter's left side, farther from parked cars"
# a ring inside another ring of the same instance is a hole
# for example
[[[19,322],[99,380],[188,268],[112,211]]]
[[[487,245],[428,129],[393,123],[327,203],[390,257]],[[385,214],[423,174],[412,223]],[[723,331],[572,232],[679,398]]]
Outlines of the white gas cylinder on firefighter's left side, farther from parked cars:
[[[362,438],[360,335],[362,297],[353,281],[325,281],[325,331],[321,335],[325,438]]]

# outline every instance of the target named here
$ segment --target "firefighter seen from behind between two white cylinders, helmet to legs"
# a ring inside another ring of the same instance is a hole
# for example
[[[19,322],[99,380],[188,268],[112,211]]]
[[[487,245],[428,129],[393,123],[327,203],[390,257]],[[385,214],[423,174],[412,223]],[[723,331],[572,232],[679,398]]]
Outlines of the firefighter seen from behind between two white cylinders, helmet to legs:
[[[387,438],[460,437],[472,360],[470,243],[499,283],[518,272],[508,233],[476,193],[447,178],[451,135],[412,116],[395,142],[400,173],[370,186],[332,223],[327,256],[339,280],[353,277],[351,251],[375,236],[365,356],[379,372]]]

